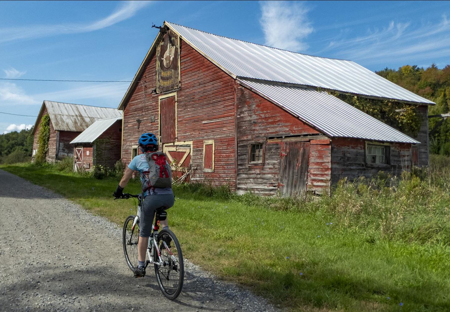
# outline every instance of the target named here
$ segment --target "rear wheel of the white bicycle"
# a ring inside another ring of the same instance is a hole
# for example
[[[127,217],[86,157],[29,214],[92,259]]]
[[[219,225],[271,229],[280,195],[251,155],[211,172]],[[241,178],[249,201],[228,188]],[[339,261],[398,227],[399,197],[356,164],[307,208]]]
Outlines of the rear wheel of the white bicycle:
[[[171,238],[170,250],[176,259],[176,263],[174,263],[168,250],[166,250],[166,248],[164,247],[163,240],[167,236]],[[167,299],[174,300],[180,295],[184,281],[184,263],[180,243],[171,230],[162,230],[158,234],[157,245],[159,250],[161,251],[162,261],[165,261],[168,264],[165,266],[158,266],[157,264],[154,265],[156,279],[158,281],[158,285],[162,291],[162,294],[164,294]],[[154,260],[158,261],[158,255],[156,252],[154,255]],[[170,279],[171,276],[174,276],[175,278]]]

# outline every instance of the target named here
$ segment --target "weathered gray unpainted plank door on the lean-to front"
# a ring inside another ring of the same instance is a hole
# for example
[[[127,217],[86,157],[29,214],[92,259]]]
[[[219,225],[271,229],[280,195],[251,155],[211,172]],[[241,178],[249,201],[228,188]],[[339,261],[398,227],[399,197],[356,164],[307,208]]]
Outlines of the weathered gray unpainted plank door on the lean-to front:
[[[279,190],[282,195],[306,191],[309,142],[282,142]]]

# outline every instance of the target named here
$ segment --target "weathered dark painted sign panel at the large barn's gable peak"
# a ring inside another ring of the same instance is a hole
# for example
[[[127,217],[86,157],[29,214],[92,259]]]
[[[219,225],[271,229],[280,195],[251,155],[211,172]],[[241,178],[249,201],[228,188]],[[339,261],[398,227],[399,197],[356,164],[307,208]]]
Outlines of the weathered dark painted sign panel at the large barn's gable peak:
[[[180,88],[180,38],[165,31],[156,48],[156,92]]]

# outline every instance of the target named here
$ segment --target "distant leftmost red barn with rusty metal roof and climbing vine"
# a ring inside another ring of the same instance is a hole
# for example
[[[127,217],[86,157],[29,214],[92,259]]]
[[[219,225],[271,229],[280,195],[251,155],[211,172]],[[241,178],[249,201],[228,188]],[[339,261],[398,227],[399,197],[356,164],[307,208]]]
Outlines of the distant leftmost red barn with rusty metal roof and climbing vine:
[[[50,117],[50,138],[45,160],[54,162],[66,156],[73,156],[73,146],[70,145],[70,142],[95,120],[121,116],[121,111],[108,107],[44,101],[32,131],[34,135],[33,159],[39,148],[40,120],[46,114]]]

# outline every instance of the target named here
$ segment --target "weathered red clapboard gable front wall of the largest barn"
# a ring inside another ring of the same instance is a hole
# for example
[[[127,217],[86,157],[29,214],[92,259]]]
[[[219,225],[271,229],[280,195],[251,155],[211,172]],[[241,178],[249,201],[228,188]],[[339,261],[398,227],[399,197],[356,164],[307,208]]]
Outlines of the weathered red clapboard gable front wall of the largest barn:
[[[235,187],[234,80],[216,65],[192,49],[183,40],[180,45],[180,89],[177,93],[176,141],[192,141],[191,181],[209,180]],[[144,132],[158,135],[158,97],[156,62],[153,57],[144,69],[124,108],[122,160],[127,165],[131,149]],[[145,87],[145,101],[144,101]],[[152,121],[152,117],[154,121]],[[142,120],[139,129],[136,119]],[[203,171],[203,141],[215,141],[214,172]]]

